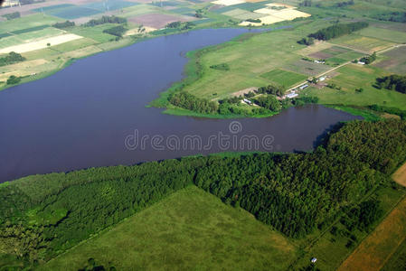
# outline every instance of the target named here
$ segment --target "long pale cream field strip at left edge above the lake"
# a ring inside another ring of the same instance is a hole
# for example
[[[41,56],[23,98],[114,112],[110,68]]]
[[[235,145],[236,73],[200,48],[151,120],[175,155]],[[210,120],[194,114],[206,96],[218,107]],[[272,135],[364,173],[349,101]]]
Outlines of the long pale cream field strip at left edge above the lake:
[[[28,42],[28,43],[24,43],[24,44],[10,46],[10,47],[1,49],[0,53],[8,53],[10,51],[15,51],[15,52],[19,52],[19,53],[26,52],[26,51],[35,51],[35,50],[47,48],[48,43],[50,43],[51,46],[53,46],[53,45],[58,45],[58,44],[65,43],[65,42],[71,42],[71,41],[78,40],[81,38],[82,38],[81,36],[75,35],[72,33],[62,34],[59,36],[42,39],[42,40],[36,41],[36,42]]]

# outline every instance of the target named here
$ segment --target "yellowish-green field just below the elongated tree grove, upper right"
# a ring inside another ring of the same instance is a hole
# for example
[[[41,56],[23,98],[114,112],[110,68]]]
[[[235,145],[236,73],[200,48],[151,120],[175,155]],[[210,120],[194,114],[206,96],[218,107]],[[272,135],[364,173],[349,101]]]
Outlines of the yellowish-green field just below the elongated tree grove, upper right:
[[[331,40],[330,42],[339,45],[345,45],[355,50],[365,52],[381,51],[394,45],[393,42],[382,41],[374,38],[364,37],[357,34],[349,34],[343,37]]]

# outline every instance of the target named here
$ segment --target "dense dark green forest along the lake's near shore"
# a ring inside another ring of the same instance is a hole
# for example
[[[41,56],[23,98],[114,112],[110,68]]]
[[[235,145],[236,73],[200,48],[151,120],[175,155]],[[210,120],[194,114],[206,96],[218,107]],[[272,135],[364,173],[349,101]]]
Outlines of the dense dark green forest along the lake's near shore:
[[[351,214],[347,227],[364,229],[379,203],[359,202],[405,160],[405,121],[354,121],[337,126],[313,153],[188,157],[5,182],[0,259],[26,266],[49,260],[192,184],[288,237],[323,229],[343,212]]]

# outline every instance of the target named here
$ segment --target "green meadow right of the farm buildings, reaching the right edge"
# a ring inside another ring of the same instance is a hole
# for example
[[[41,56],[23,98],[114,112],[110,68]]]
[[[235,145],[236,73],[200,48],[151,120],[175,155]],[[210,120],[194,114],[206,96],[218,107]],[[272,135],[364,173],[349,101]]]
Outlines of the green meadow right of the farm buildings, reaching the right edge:
[[[373,84],[378,77],[387,75],[384,70],[375,67],[365,67],[357,64],[349,64],[337,71],[339,74],[328,83],[334,83],[341,87],[337,89],[307,89],[303,93],[316,96],[322,104],[343,104],[354,106],[381,105],[406,109],[405,95],[397,91],[386,89],[375,89]],[[355,89],[362,88],[362,93],[355,92]]]

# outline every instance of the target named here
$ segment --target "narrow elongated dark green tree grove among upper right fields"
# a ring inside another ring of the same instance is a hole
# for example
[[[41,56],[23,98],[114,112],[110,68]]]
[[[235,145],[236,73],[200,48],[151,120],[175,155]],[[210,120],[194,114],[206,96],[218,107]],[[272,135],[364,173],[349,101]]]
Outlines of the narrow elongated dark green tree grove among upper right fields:
[[[335,25],[320,29],[316,33],[308,35],[310,38],[316,40],[328,41],[345,34],[353,33],[354,31],[361,30],[368,27],[369,23],[357,22],[357,23],[337,23]]]

